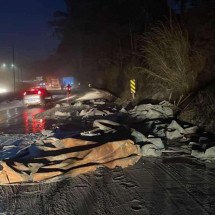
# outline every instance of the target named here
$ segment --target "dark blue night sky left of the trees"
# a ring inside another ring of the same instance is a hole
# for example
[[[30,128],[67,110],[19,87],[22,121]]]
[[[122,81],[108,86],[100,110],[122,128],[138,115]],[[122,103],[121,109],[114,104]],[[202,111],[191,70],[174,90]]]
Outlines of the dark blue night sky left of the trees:
[[[0,0],[0,63],[15,59],[39,60],[53,53],[59,41],[48,26],[55,10],[65,10],[63,0]]]

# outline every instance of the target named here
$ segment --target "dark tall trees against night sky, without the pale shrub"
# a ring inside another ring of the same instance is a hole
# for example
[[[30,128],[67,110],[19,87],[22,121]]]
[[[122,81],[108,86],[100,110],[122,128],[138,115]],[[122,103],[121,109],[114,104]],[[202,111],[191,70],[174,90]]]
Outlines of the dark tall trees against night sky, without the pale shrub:
[[[129,66],[142,61],[139,35],[159,22],[174,27],[177,21],[205,52],[212,53],[206,47],[213,49],[214,44],[205,42],[214,33],[213,0],[64,1],[67,10],[56,11],[49,23],[60,45],[40,64],[43,71],[74,75],[80,81],[117,91]],[[108,82],[114,82],[113,86]]]

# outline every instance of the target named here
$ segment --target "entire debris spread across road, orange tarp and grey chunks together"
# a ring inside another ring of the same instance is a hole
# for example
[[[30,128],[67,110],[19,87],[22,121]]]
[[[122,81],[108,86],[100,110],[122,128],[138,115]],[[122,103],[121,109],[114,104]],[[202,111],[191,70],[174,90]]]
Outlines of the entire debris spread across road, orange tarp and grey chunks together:
[[[199,133],[197,126],[174,118],[170,103],[141,104],[118,111],[119,108],[101,100],[103,97],[104,92],[93,90],[76,98],[73,105],[57,104],[38,115],[91,120],[91,129],[79,131],[77,138],[59,139],[55,130],[49,130],[42,131],[28,144],[22,139],[1,144],[0,184],[56,181],[94,171],[99,166],[125,168],[141,156],[161,157],[165,153],[180,152],[204,161],[215,160],[214,136]],[[112,99],[111,95],[106,97]],[[113,115],[115,121],[110,120]],[[0,141],[4,138],[0,135]]]

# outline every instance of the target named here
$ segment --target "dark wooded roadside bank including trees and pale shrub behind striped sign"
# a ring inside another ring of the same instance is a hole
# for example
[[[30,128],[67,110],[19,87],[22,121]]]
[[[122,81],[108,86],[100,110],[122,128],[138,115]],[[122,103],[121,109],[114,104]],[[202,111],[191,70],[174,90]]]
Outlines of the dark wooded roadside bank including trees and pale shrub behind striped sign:
[[[90,83],[122,100],[132,100],[129,80],[135,79],[134,103],[165,99],[181,111],[191,107],[209,83],[213,85],[214,0],[65,4],[67,10],[56,11],[49,23],[59,47],[40,71],[74,75],[82,86]]]

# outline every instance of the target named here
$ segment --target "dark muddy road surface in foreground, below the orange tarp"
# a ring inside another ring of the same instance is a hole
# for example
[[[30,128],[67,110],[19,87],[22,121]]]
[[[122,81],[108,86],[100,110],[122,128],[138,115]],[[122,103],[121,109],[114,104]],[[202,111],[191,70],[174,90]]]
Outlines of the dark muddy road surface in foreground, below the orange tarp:
[[[188,158],[141,159],[133,167],[58,183],[1,186],[2,214],[212,215],[215,174]]]

